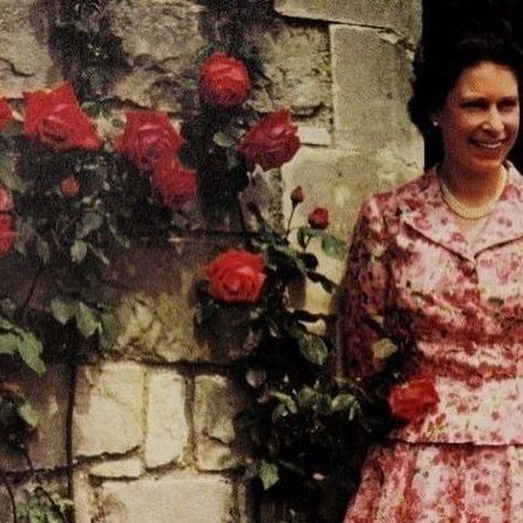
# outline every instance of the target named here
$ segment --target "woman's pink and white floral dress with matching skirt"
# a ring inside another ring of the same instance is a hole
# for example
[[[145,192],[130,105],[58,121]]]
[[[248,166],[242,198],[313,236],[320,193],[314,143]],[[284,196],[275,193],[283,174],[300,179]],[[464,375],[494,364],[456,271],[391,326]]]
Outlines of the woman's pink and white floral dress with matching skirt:
[[[473,245],[434,170],[361,210],[349,364],[378,369],[373,325],[408,333],[439,402],[371,449],[345,523],[523,522],[523,178],[508,169]]]

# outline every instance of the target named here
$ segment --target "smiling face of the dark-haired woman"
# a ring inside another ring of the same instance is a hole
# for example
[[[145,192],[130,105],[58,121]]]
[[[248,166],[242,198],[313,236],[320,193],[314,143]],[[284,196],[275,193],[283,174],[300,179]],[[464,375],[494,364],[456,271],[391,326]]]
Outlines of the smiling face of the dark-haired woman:
[[[494,62],[463,70],[436,115],[444,167],[473,174],[498,173],[520,127],[517,78]]]

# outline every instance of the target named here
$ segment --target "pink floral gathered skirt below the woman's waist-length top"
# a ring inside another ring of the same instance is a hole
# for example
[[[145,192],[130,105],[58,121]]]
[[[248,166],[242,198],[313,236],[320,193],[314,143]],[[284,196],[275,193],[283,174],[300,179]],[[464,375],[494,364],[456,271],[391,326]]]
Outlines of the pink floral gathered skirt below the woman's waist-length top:
[[[523,446],[388,441],[344,523],[523,523]]]

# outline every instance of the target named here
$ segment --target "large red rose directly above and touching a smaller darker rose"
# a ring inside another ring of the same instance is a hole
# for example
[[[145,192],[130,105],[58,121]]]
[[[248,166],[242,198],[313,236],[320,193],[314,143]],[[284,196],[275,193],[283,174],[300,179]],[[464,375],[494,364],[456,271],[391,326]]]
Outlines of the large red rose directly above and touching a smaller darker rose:
[[[140,171],[167,164],[180,149],[183,138],[164,113],[132,110],[126,113],[124,134],[116,139],[116,150],[124,152]]]

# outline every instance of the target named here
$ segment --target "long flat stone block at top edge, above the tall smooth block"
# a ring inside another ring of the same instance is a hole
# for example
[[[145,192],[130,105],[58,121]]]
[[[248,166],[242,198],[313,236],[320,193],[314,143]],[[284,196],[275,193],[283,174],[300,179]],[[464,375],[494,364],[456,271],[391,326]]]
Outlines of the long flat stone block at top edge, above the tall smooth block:
[[[420,0],[275,0],[275,10],[288,17],[393,29],[417,41]]]

